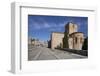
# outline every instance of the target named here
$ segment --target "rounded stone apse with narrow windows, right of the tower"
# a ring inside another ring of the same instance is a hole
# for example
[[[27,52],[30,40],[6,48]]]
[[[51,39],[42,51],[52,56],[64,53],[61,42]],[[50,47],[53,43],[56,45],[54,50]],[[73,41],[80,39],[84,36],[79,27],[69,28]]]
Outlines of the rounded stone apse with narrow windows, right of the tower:
[[[82,32],[74,32],[68,37],[68,48],[82,50],[84,43],[84,34]]]

